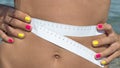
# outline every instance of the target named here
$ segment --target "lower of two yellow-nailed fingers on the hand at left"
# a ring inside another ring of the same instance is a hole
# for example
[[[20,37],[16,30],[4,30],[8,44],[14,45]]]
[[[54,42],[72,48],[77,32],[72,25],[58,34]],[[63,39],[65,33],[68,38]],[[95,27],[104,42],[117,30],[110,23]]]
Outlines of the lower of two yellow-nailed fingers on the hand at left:
[[[6,25],[6,30],[7,30],[7,33],[12,35],[12,36],[15,36],[17,38],[24,38],[25,37],[25,34],[17,29],[14,29],[8,25]]]

